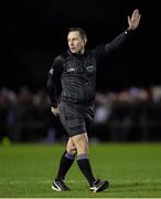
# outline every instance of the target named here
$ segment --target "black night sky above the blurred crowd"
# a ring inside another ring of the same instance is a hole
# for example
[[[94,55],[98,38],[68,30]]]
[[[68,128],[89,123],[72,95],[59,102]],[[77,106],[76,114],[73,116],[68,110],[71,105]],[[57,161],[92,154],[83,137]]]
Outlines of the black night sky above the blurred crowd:
[[[127,15],[142,14],[135,34],[98,65],[97,88],[161,84],[161,22],[157,2],[144,0],[6,0],[0,2],[0,87],[45,87],[55,55],[66,51],[68,27],[82,27],[87,48],[109,42],[127,27]]]

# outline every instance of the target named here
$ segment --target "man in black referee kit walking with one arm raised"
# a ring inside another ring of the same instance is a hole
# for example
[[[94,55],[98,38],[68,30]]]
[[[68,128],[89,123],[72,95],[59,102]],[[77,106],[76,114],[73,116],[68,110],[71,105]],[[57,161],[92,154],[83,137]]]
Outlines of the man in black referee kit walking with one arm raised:
[[[88,159],[89,126],[94,118],[96,63],[109,52],[118,48],[140,22],[141,14],[136,9],[131,18],[128,17],[128,29],[111,42],[85,50],[86,33],[80,28],[68,31],[68,51],[55,57],[47,75],[47,92],[51,111],[57,116],[68,134],[66,150],[64,151],[57,176],[52,189],[56,191],[71,190],[65,185],[65,175],[77,156],[77,165],[89,184],[92,192],[103,191],[109,187],[107,180],[96,179]],[[61,97],[57,87],[61,80]]]

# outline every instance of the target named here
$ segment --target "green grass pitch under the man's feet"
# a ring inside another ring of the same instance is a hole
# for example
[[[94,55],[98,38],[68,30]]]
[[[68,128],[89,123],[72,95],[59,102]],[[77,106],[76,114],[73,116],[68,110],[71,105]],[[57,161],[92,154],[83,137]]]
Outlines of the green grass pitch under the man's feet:
[[[161,143],[90,144],[95,177],[109,189],[90,193],[76,161],[66,176],[72,191],[51,189],[65,144],[0,146],[0,198],[161,198]]]

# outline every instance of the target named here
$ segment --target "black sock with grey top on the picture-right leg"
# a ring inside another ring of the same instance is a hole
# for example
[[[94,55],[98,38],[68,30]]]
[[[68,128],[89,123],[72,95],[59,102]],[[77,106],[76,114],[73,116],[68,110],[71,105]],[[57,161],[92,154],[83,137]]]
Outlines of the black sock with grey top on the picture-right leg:
[[[78,164],[79,169],[82,170],[82,172],[84,174],[84,176],[88,180],[89,186],[92,186],[95,181],[95,178],[94,178],[92,167],[90,167],[90,163],[89,163],[87,155],[86,154],[78,155],[77,156],[77,164]]]

